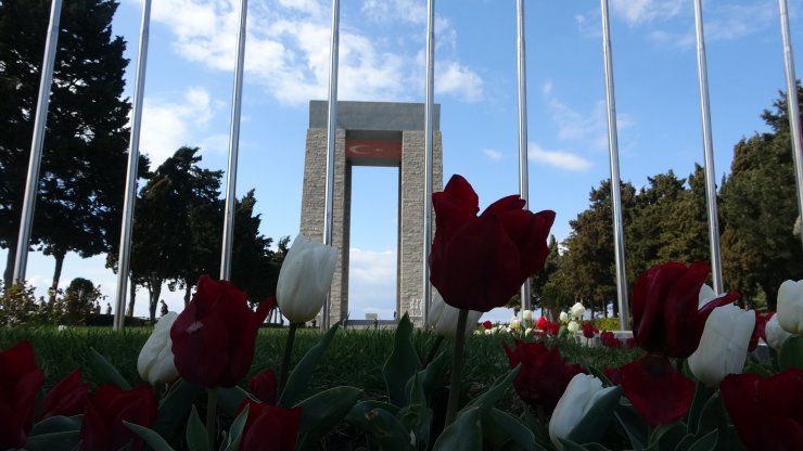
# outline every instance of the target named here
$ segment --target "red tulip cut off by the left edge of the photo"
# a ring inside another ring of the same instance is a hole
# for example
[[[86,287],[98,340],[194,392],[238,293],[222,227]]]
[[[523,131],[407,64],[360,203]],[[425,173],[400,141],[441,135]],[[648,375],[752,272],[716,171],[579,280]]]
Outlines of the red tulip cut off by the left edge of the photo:
[[[28,342],[0,352],[0,449],[22,448],[34,422],[36,395],[44,374]]]

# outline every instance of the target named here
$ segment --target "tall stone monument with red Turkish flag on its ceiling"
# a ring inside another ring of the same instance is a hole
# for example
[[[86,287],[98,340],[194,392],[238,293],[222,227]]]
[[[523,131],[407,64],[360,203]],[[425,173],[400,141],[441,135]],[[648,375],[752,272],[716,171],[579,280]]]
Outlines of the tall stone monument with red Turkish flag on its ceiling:
[[[432,185],[443,189],[439,105],[433,112]],[[323,241],[328,102],[309,103],[301,232]],[[332,245],[340,252],[330,294],[331,323],[348,315],[348,254],[354,166],[397,167],[396,306],[417,326],[423,318],[424,104],[337,102],[334,141]],[[391,201],[391,199],[388,199]],[[434,214],[433,236],[434,236]]]

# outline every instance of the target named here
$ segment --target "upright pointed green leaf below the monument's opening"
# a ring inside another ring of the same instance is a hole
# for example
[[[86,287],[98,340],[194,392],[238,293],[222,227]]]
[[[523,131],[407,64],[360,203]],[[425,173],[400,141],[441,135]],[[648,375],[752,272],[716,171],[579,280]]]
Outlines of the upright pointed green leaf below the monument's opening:
[[[407,398],[407,381],[416,375],[421,366],[416,347],[412,345],[412,323],[410,317],[405,313],[396,326],[393,337],[393,351],[382,368],[382,376],[387,387],[387,396],[391,402],[405,407],[409,402]]]

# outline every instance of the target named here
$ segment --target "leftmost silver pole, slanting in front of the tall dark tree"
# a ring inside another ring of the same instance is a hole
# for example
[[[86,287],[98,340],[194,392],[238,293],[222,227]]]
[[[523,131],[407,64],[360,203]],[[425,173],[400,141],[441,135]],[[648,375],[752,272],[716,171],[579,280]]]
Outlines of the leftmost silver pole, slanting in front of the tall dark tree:
[[[39,186],[39,166],[42,160],[42,145],[44,144],[44,126],[48,123],[48,106],[50,105],[50,86],[53,82],[53,65],[55,50],[59,47],[59,20],[61,18],[62,0],[53,0],[50,7],[50,26],[44,41],[44,56],[42,61],[42,76],[39,80],[39,100],[36,104],[34,119],[34,140],[30,144],[30,160],[28,176],[25,183],[25,199],[20,218],[20,235],[16,240],[16,258],[14,259],[14,283],[25,283],[25,270],[28,266],[28,242],[34,222],[34,207],[36,192]]]

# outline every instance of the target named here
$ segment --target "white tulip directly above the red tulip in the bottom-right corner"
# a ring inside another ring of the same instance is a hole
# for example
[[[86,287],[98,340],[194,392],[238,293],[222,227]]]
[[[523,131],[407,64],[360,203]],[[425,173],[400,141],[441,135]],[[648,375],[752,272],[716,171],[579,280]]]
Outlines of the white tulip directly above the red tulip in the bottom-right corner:
[[[705,321],[700,345],[689,357],[694,376],[716,387],[728,374],[741,373],[755,326],[755,312],[729,304],[717,307]]]

